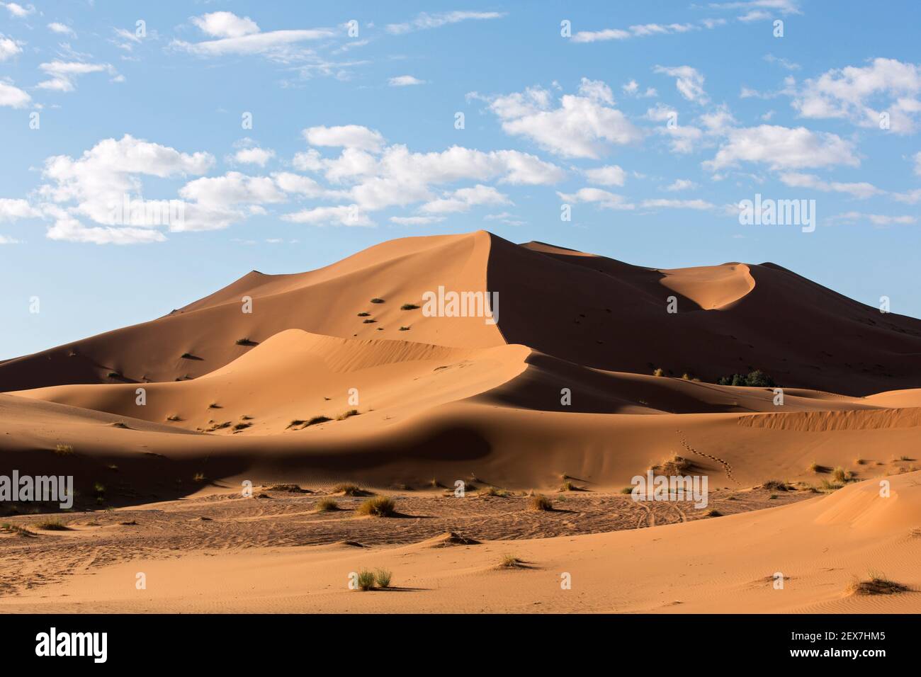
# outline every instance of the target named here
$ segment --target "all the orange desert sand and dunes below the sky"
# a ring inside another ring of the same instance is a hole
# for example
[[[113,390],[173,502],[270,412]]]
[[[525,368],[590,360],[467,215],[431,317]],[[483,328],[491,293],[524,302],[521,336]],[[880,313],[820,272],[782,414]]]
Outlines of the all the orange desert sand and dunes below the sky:
[[[438,286],[497,293],[497,321],[426,316]],[[716,382],[755,369],[782,404]],[[917,612],[918,385],[921,321],[773,263],[478,231],[254,271],[0,362],[2,467],[77,490],[64,531],[5,506],[0,610]],[[622,493],[676,462],[705,508]],[[376,567],[393,589],[348,589]],[[904,589],[849,588],[874,576]]]

